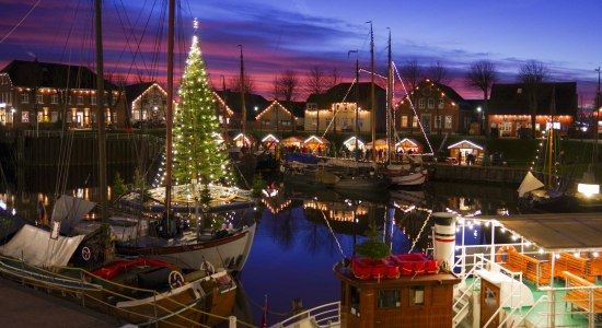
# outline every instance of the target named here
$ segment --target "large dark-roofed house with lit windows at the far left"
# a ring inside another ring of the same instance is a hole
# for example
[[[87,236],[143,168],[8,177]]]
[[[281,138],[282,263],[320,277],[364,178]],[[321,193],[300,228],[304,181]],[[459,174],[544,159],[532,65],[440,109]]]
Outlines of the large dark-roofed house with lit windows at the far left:
[[[105,120],[125,125],[125,93],[107,81]],[[28,128],[65,118],[71,128],[96,121],[96,74],[82,66],[13,60],[0,70],[0,124]]]

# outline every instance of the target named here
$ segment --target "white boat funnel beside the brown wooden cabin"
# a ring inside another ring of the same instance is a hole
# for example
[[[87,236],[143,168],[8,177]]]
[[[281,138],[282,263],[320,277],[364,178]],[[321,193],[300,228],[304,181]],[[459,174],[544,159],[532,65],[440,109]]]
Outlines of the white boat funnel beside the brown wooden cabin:
[[[455,258],[455,214],[437,212],[433,229],[433,259],[439,261],[439,267],[452,270]]]

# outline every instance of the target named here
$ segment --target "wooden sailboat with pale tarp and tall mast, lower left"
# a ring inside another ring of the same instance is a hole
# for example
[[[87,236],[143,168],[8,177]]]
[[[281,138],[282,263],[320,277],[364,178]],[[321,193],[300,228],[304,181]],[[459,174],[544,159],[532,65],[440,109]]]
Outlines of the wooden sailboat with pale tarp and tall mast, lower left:
[[[170,1],[173,26],[173,3]],[[22,284],[56,293],[102,311],[134,325],[202,326],[228,315],[236,284],[225,270],[186,270],[166,261],[147,258],[117,259],[112,251],[106,216],[106,157],[104,155],[104,77],[102,50],[102,5],[95,2],[97,61],[97,125],[100,150],[100,199],[103,211],[102,257],[93,257],[90,236],[65,234],[94,204],[61,197],[53,211],[49,229],[24,225],[0,247],[0,276]],[[173,51],[173,47],[172,47]],[[73,214],[71,209],[77,211]],[[69,213],[68,213],[69,212]],[[77,267],[81,258],[85,268]]]

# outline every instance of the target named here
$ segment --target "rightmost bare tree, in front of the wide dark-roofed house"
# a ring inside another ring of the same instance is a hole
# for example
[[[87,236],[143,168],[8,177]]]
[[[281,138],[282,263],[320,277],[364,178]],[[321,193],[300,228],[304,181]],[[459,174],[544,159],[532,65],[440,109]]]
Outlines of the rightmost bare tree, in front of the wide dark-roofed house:
[[[549,69],[542,62],[530,60],[521,66],[517,80],[524,84],[531,107],[531,137],[535,138],[535,116],[537,115],[537,98],[542,84],[549,79]]]

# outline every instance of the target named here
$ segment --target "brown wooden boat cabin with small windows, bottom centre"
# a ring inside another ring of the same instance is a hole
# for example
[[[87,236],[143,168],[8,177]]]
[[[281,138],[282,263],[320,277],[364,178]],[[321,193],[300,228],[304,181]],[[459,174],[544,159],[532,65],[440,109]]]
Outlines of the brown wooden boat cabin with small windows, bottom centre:
[[[340,327],[452,326],[453,288],[460,282],[454,274],[366,279],[340,263],[334,273],[340,280]]]

